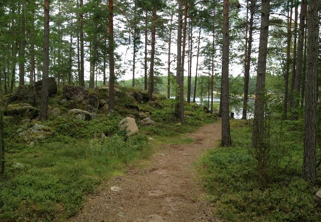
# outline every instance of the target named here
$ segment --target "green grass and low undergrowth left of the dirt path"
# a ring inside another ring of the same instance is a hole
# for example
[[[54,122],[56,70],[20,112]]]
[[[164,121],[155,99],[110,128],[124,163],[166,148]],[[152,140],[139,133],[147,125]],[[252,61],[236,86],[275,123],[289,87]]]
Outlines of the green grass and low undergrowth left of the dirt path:
[[[51,99],[50,103],[68,111],[56,100]],[[201,107],[186,104],[190,116],[181,126],[171,117],[171,101],[160,103],[161,108],[139,104],[150,112],[156,126],[138,125],[140,133],[130,137],[119,129],[124,116],[117,113],[99,114],[98,119],[91,121],[60,115],[27,123],[50,129],[44,139],[30,144],[16,133],[21,119],[5,117],[6,171],[0,178],[0,221],[68,220],[97,185],[124,174],[128,165],[144,162],[164,143],[193,142],[180,135],[214,121]],[[101,138],[101,134],[107,137]]]

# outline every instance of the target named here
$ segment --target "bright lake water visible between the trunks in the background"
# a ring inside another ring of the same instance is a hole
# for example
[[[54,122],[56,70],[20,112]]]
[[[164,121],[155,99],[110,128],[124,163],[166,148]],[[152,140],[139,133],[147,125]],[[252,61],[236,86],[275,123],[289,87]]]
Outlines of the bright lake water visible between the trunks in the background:
[[[195,102],[197,104],[201,104],[201,98],[200,97],[196,97],[195,98]],[[202,105],[207,107],[207,105],[208,105],[208,97],[203,97]],[[214,107],[213,109],[215,109],[215,108],[218,109],[219,105],[220,105],[220,99],[219,98],[213,98],[213,107]],[[249,99],[248,100],[248,106],[249,106],[249,110],[250,111],[247,111],[247,118],[253,117],[253,113],[251,112],[253,105],[254,105],[254,100]],[[211,98],[209,98],[209,107],[210,106],[211,106]],[[242,101],[242,99],[238,99],[236,103],[233,103],[233,105],[231,107],[231,111],[234,112],[234,118],[236,118],[236,119],[241,119],[242,118],[242,111],[243,111],[243,101]]]

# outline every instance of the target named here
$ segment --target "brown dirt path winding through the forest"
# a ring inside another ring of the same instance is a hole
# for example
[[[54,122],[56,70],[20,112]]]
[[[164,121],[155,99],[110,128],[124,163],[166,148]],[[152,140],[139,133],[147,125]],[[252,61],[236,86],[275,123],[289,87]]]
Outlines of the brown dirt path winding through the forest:
[[[205,125],[186,137],[194,142],[166,146],[151,157],[146,168],[131,169],[90,195],[72,221],[219,221],[201,198],[204,192],[197,182],[193,162],[216,145],[221,137],[221,123]]]

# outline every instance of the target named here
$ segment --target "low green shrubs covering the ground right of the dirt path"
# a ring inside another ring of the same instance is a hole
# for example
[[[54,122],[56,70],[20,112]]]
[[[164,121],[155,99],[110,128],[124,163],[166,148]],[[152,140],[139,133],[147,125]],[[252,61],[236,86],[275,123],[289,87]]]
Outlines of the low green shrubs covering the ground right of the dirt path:
[[[280,129],[281,123],[271,131]],[[226,221],[319,221],[321,209],[314,201],[318,190],[301,179],[302,121],[283,122],[280,147],[286,148],[292,160],[279,158],[274,149],[269,181],[261,183],[252,155],[251,129],[243,121],[232,122],[233,147],[215,148],[199,162],[203,185],[209,200],[215,203],[215,212]],[[273,140],[276,143],[276,139]],[[273,169],[274,167],[274,169]],[[320,170],[319,170],[320,175]]]

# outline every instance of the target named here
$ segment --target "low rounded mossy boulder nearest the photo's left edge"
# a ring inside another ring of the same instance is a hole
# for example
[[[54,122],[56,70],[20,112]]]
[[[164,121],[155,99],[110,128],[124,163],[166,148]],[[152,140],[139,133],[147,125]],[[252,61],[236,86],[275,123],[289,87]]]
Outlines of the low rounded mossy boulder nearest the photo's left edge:
[[[4,111],[5,115],[29,117],[31,119],[38,115],[38,110],[27,103],[10,104]]]

